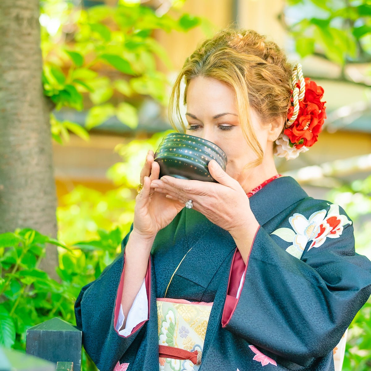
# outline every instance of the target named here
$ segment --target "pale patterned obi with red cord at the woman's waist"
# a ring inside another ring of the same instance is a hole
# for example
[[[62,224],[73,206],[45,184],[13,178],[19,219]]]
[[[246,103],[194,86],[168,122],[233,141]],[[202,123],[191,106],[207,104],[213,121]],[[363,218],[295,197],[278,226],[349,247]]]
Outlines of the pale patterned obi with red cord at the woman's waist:
[[[160,371],[197,371],[213,303],[157,298]]]

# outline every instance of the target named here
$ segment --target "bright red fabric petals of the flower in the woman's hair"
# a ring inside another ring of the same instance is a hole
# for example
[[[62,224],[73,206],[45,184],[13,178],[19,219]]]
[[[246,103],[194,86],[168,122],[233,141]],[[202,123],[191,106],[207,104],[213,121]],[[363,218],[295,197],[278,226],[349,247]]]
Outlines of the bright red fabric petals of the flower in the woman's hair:
[[[299,81],[296,86],[300,88]],[[290,142],[295,144],[295,148],[311,147],[317,141],[326,118],[326,101],[321,101],[323,93],[324,89],[321,86],[318,86],[314,81],[310,81],[309,77],[305,78],[305,95],[303,100],[299,101],[298,117],[284,131]],[[291,101],[293,102],[293,98],[291,98]],[[294,107],[291,106],[287,115],[288,119],[292,117],[293,111]]]

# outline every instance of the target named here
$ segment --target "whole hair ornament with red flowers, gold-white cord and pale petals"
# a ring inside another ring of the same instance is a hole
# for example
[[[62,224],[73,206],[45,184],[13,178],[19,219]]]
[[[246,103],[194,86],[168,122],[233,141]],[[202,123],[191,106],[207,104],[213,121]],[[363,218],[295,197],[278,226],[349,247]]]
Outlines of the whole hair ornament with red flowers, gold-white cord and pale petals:
[[[308,151],[315,144],[326,118],[326,101],[321,101],[324,89],[310,81],[309,77],[303,77],[300,63],[293,68],[292,86],[285,129],[276,139],[274,152],[286,160],[298,157],[300,152]]]

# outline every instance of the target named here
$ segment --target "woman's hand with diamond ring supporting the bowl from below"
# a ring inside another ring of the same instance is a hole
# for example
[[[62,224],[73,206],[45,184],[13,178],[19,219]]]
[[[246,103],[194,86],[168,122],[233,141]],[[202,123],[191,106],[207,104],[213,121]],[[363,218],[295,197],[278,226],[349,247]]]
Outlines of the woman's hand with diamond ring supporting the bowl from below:
[[[184,204],[192,200],[193,209],[232,234],[246,226],[249,220],[255,219],[249,198],[240,183],[223,171],[215,160],[211,160],[208,167],[211,176],[219,183],[165,175],[161,179],[152,180],[151,187]]]

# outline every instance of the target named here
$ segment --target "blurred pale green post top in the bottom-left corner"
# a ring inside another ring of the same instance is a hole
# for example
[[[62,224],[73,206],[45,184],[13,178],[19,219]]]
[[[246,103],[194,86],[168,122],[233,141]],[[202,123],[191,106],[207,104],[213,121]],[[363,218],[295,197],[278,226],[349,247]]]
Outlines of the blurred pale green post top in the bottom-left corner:
[[[0,347],[0,371],[55,371],[55,364],[24,352]]]

